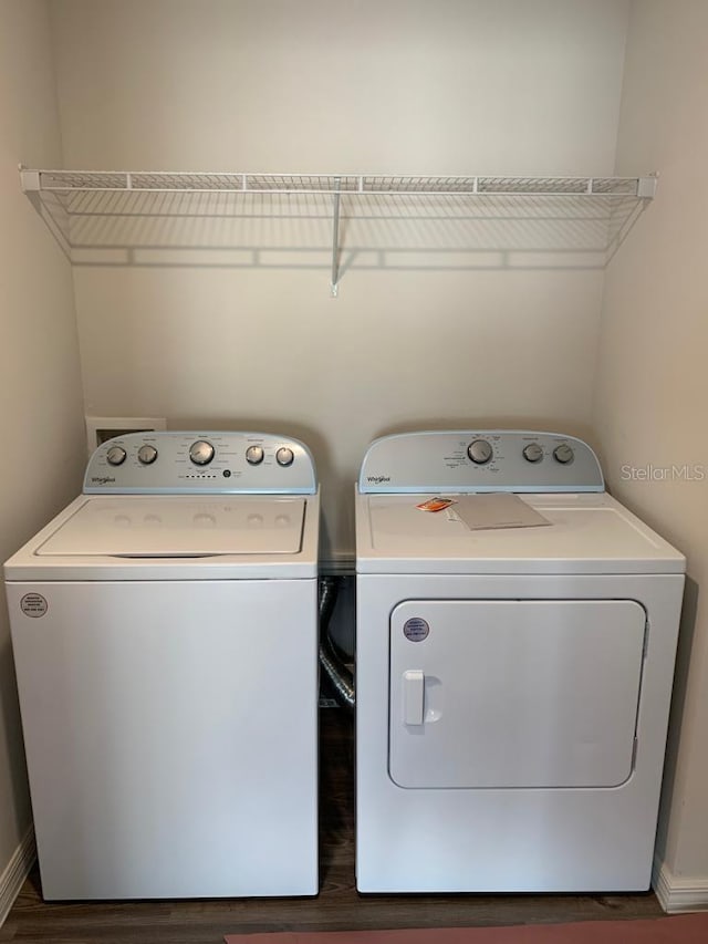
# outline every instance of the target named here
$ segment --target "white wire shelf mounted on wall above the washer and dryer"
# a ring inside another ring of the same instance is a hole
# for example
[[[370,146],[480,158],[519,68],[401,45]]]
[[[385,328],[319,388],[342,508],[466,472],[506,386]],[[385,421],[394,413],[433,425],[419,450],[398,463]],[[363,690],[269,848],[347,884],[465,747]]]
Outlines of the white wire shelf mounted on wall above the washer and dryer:
[[[269,251],[291,258],[326,253],[333,294],[341,272],[367,253],[374,253],[373,264],[379,268],[389,259],[398,261],[403,253],[424,249],[437,253],[437,259],[445,252],[473,253],[477,259],[496,252],[503,266],[510,264],[512,253],[525,253],[521,264],[539,253],[556,253],[551,264],[559,264],[560,257],[569,259],[573,252],[592,255],[592,266],[605,264],[656,191],[656,176],[21,167],[20,178],[75,264],[149,264],[139,260],[156,259],[160,252],[171,259],[169,253],[178,250],[185,259],[194,258],[190,252],[201,253],[198,264],[211,250],[236,253],[247,260],[244,264],[263,264]],[[87,258],[91,252],[93,261]]]

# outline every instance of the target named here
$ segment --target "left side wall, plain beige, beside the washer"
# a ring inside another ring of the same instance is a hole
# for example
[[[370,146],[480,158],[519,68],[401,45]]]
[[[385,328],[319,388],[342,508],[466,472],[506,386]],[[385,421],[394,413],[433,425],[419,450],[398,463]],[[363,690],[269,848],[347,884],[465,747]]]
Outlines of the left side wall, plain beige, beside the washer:
[[[0,560],[81,487],[83,409],[71,271],[20,190],[18,163],[61,160],[44,0],[0,3]],[[0,873],[31,822],[0,589]]]

